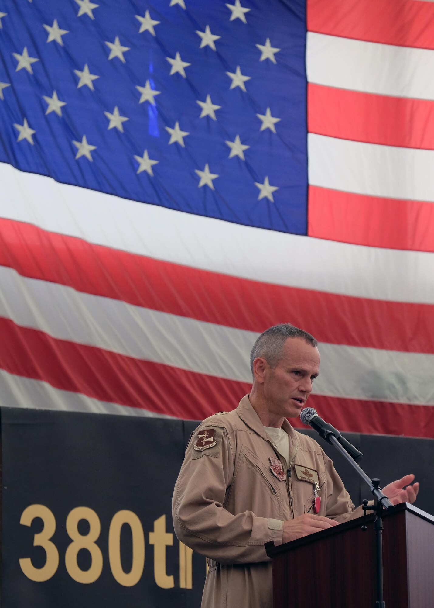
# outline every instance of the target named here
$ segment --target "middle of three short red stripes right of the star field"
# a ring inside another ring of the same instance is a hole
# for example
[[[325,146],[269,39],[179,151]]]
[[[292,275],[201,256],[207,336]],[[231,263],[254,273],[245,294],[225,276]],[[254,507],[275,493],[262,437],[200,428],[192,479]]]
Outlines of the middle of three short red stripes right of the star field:
[[[309,83],[308,130],[340,139],[434,150],[434,102]]]

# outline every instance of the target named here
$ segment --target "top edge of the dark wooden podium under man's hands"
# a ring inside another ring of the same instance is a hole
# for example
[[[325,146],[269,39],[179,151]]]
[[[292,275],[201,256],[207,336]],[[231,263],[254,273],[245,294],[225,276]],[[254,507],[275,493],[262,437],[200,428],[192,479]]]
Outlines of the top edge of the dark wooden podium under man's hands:
[[[400,511],[409,511],[410,513],[415,514],[418,517],[422,517],[422,519],[427,520],[427,522],[434,523],[434,516],[429,513],[425,513],[421,509],[418,509],[417,506],[410,505],[408,502],[402,502],[399,505],[395,506],[395,510],[393,513],[387,513],[383,511],[382,518],[386,519],[387,517],[394,516],[396,513]],[[374,513],[367,514],[367,523],[373,522],[375,519]],[[265,550],[267,556],[269,558],[274,558],[274,556],[279,555],[280,553],[286,553],[286,551],[291,551],[292,549],[296,549],[297,547],[302,547],[303,545],[311,544],[312,542],[317,542],[322,539],[326,539],[329,536],[334,536],[335,534],[342,534],[346,530],[351,530],[352,528],[362,527],[363,517],[357,517],[356,519],[350,519],[348,522],[340,523],[339,526],[333,526],[332,528],[327,528],[327,530],[320,530],[319,532],[315,532],[314,534],[308,534],[308,536],[303,536],[302,538],[298,538],[296,541],[286,542],[283,545],[275,545],[273,541],[265,543]],[[386,527],[387,523],[385,523]]]

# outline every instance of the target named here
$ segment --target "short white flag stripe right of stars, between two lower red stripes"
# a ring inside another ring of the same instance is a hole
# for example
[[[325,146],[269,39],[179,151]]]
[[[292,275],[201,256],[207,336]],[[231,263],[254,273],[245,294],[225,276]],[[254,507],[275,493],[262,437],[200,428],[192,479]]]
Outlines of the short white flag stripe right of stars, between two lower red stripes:
[[[433,150],[309,133],[308,154],[309,184],[356,194],[434,201]]]

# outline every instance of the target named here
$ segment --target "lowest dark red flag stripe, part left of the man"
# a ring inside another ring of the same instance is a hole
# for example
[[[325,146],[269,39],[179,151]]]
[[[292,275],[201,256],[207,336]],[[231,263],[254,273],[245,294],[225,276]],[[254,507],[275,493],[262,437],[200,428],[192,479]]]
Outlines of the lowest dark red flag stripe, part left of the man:
[[[0,368],[99,401],[178,418],[236,407],[250,385],[58,340],[0,317]],[[235,395],[235,397],[234,397]]]

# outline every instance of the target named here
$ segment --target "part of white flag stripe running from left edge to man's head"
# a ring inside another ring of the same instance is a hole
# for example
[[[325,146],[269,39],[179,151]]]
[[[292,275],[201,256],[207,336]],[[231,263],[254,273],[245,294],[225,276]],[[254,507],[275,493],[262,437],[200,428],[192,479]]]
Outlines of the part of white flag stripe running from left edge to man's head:
[[[21,277],[0,266],[0,317],[54,338],[185,370],[249,380],[258,334],[228,330],[71,287]]]

